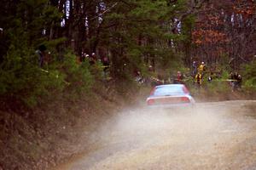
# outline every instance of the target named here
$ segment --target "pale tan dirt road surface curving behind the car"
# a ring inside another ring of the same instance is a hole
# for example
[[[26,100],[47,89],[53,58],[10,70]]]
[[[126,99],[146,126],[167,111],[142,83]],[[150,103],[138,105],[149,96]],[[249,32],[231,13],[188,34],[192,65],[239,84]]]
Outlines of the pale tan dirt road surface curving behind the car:
[[[99,125],[89,149],[55,170],[256,169],[256,101],[193,111],[127,109]]]

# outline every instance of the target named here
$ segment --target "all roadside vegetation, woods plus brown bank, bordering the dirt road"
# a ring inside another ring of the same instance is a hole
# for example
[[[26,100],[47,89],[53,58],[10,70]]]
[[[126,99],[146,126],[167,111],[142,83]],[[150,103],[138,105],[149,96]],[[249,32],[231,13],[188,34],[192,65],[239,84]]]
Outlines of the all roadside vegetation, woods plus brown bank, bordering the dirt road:
[[[81,119],[88,122],[92,112],[131,102],[152,82],[172,82],[177,71],[199,96],[233,95],[230,71],[241,74],[239,93],[256,89],[252,1],[2,4],[0,169],[38,169],[44,164],[39,160],[57,153],[55,143],[71,142],[67,133],[78,135]],[[200,90],[191,74],[193,61],[207,65]],[[207,82],[211,72],[213,80]],[[137,83],[136,77],[149,82]]]

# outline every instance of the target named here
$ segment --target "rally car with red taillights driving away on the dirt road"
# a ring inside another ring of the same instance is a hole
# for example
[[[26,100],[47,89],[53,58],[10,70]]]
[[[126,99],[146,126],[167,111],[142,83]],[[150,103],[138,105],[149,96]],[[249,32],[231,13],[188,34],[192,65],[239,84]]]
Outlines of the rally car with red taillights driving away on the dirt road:
[[[195,99],[183,84],[166,84],[153,88],[147,98],[148,106],[190,106]]]

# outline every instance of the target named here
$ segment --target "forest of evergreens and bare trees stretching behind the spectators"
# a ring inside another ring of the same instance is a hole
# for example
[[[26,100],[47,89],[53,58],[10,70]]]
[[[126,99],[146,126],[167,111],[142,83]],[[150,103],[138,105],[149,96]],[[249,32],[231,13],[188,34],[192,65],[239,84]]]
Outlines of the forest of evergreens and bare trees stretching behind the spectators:
[[[92,53],[108,59],[113,79],[136,71],[148,77],[148,67],[170,76],[195,60],[211,71],[242,71],[247,86],[255,86],[253,0],[3,0],[2,6],[0,95],[28,105],[56,91],[89,88],[101,66],[92,71],[79,61]]]

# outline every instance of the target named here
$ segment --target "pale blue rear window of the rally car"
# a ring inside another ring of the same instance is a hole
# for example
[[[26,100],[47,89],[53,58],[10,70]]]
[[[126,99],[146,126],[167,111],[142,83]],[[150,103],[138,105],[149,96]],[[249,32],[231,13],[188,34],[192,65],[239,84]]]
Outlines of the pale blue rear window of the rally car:
[[[183,86],[162,86],[154,90],[154,96],[184,94]]]

